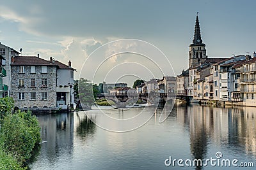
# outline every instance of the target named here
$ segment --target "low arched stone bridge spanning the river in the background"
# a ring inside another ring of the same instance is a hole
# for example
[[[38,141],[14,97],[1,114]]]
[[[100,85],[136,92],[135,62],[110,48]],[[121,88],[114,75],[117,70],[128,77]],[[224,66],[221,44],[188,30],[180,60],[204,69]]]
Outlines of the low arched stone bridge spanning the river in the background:
[[[138,99],[146,101],[148,104],[166,103],[171,99],[175,99],[175,93],[116,93],[116,94],[100,94],[98,98],[106,98],[116,104],[117,108],[125,108],[128,103],[136,103]]]

